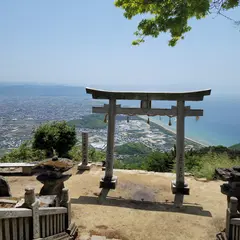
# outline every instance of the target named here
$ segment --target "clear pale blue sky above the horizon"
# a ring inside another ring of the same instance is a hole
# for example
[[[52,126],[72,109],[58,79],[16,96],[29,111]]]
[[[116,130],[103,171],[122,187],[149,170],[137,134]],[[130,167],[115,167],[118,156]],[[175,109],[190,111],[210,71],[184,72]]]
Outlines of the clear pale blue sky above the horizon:
[[[228,13],[240,19],[240,9]],[[240,32],[223,17],[191,21],[185,40],[131,46],[113,0],[0,1],[0,82],[213,88],[238,92]]]

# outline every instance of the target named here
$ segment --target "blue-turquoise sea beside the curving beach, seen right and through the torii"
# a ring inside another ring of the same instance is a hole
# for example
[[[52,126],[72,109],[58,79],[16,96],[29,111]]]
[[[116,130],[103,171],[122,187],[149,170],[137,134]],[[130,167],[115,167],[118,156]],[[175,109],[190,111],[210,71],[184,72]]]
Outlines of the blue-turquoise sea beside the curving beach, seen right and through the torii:
[[[122,101],[126,106],[139,106],[139,103]],[[192,109],[203,109],[203,116],[185,118],[185,136],[204,145],[232,146],[240,143],[240,95],[211,95],[200,102],[186,102]],[[169,108],[176,102],[153,101],[152,107]],[[150,117],[159,124],[176,131],[176,118]]]

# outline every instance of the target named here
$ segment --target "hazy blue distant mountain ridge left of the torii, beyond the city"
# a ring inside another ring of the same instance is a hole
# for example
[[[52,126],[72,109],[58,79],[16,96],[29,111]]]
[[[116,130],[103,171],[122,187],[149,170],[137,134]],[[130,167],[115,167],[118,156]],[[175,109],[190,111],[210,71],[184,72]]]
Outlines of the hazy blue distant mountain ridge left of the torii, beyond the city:
[[[33,97],[33,96],[83,96],[84,87],[61,85],[7,85],[0,83],[0,96]],[[87,96],[87,95],[86,95]]]

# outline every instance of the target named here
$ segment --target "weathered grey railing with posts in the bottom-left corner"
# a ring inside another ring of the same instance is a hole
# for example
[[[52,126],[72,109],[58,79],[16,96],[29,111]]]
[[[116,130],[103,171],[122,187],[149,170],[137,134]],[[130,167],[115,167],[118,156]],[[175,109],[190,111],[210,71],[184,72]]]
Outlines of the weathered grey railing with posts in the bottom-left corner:
[[[26,208],[0,209],[0,240],[69,239],[71,203],[63,189],[60,207],[40,207],[34,189],[26,189]]]

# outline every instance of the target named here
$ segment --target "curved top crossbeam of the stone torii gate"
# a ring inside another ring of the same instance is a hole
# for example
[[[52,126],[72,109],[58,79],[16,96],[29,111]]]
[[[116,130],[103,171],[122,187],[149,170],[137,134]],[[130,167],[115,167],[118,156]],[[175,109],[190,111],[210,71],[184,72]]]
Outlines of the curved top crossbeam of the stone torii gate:
[[[129,92],[129,91],[105,91],[86,88],[93,99],[117,99],[117,100],[167,100],[167,101],[202,101],[204,96],[211,94],[211,90],[191,92]]]

